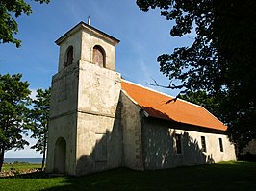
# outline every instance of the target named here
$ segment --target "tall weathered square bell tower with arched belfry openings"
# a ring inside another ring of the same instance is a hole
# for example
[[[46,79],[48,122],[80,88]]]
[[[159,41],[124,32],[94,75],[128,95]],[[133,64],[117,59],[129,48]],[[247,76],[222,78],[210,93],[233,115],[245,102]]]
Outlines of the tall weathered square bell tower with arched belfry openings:
[[[76,176],[120,166],[118,43],[84,22],[56,40],[46,172]]]

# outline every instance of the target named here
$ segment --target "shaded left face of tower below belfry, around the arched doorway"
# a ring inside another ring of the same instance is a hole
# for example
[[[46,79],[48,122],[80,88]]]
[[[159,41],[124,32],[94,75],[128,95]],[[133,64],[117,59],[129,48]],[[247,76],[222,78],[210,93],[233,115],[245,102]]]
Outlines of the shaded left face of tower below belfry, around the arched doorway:
[[[70,65],[52,79],[50,120],[46,172],[55,173],[56,142],[63,137],[66,142],[65,172],[76,173],[76,126],[77,126],[78,70]],[[58,173],[58,172],[56,172]]]

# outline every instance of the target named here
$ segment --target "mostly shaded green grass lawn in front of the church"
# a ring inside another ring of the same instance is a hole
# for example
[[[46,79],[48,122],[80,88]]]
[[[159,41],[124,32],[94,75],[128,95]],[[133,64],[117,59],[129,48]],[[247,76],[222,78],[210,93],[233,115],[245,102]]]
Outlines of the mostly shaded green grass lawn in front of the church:
[[[256,190],[256,163],[223,162],[167,170],[119,168],[83,177],[43,173],[0,179],[0,190]]]

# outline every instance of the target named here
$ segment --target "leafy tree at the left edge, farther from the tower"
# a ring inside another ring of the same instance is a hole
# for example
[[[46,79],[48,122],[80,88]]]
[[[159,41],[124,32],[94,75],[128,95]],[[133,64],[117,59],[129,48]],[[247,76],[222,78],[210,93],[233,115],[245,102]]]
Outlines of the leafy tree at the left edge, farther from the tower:
[[[0,172],[6,151],[24,149],[29,144],[22,134],[26,134],[24,121],[29,111],[26,106],[30,103],[30,90],[21,77],[0,75]]]

